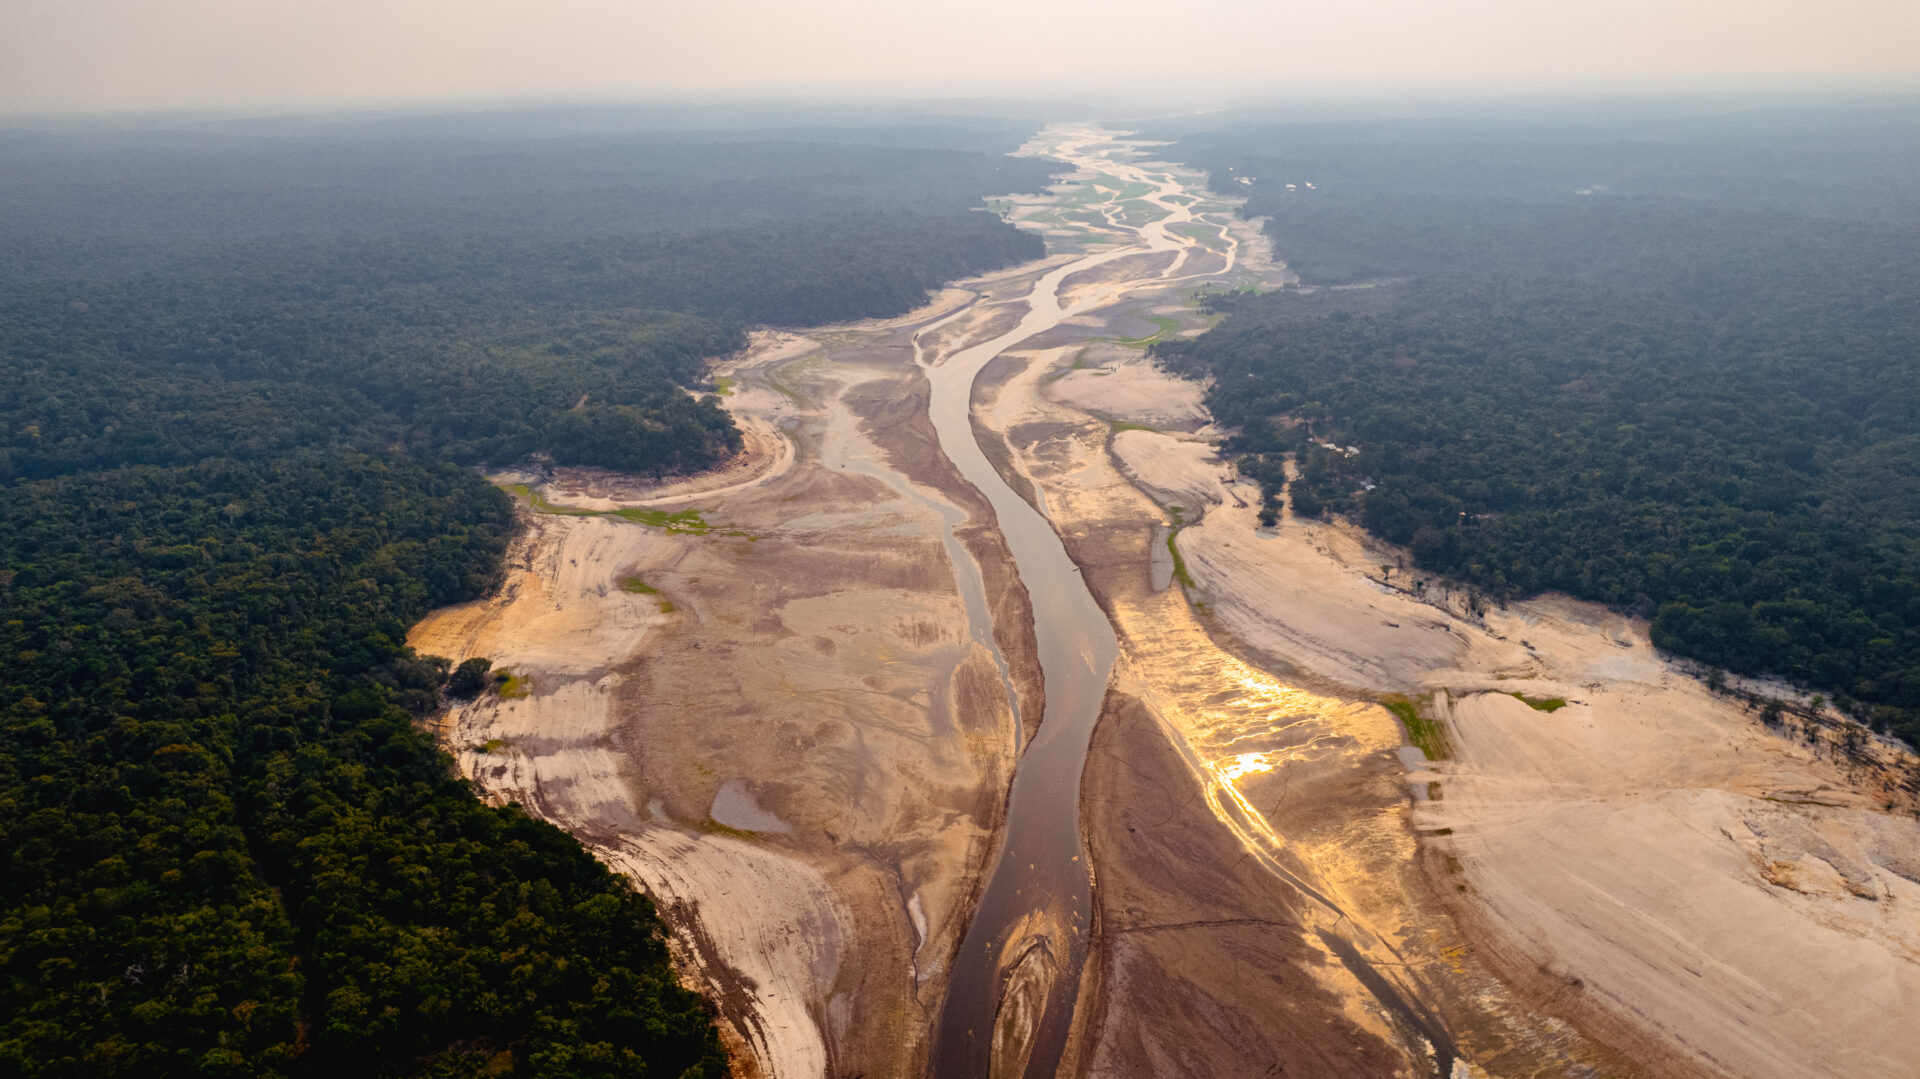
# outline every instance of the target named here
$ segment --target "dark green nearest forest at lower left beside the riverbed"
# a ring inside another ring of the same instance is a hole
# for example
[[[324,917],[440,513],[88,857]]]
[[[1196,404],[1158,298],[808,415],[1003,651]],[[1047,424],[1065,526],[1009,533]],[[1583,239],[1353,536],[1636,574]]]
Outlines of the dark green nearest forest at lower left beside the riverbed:
[[[409,712],[509,522],[401,455],[8,492],[8,1073],[726,1071],[645,899]]]

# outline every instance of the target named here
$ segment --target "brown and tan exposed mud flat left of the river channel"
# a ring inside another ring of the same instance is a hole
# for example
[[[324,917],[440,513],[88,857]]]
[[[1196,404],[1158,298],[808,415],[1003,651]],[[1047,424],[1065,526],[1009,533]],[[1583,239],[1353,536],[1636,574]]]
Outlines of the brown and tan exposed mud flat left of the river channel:
[[[972,300],[758,338],[722,367],[751,461],[553,476],[501,593],[411,635],[513,674],[447,716],[463,772],[653,895],[747,1075],[918,1071],[1039,710],[1025,595],[908,361]]]

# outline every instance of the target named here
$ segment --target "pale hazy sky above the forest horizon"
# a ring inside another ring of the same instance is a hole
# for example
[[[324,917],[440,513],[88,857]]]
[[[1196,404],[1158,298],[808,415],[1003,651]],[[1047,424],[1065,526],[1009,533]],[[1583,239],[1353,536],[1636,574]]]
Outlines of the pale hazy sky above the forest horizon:
[[[0,0],[0,111],[1920,79],[1920,0]]]

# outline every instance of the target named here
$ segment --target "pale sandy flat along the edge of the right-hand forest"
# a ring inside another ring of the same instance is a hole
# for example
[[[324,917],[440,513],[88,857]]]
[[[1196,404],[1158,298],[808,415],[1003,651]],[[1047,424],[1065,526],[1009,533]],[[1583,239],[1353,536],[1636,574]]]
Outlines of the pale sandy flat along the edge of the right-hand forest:
[[[1348,524],[1260,530],[1252,484],[1190,442],[1123,432],[1112,451],[1200,513],[1177,543],[1215,637],[1442,724],[1452,758],[1407,751],[1411,826],[1461,970],[1503,983],[1496,1014],[1571,1023],[1572,1056],[1607,1071],[1920,1073],[1920,1039],[1889,1021],[1920,993],[1910,755],[1768,730],[1599,607],[1475,614]],[[1507,1073],[1519,1056],[1482,1054],[1513,1031],[1490,1035],[1463,1029],[1461,1052]]]

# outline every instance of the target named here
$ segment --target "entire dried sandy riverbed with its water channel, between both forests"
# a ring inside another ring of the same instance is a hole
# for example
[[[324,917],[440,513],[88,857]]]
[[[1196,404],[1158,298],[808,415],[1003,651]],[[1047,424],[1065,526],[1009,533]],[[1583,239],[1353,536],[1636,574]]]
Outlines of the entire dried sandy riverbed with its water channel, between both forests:
[[[1920,1069],[1912,816],[1644,624],[1263,528],[1142,346],[1284,267],[1150,146],[1029,150],[1048,259],[756,334],[724,474],[501,476],[507,586],[411,637],[511,670],[449,749],[655,897],[737,1069]]]

